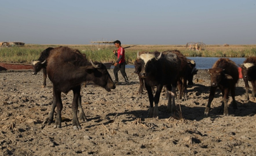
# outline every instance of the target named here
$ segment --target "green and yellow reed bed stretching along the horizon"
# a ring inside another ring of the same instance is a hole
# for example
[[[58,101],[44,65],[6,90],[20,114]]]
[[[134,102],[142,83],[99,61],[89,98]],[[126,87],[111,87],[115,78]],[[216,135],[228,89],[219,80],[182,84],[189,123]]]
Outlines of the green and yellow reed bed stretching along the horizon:
[[[117,57],[112,50],[115,47],[109,46],[98,47],[87,44],[25,44],[22,47],[0,47],[0,62],[11,63],[31,63],[37,60],[40,53],[48,47],[68,46],[78,49],[81,53],[85,53],[87,58],[98,62],[115,62]],[[131,45],[122,45],[123,47]],[[125,59],[127,64],[133,64],[136,60],[138,51],[165,51],[180,50],[187,57],[250,57],[256,56],[256,45],[230,45],[230,47],[222,47],[220,45],[207,45],[203,51],[194,51],[186,49],[185,45],[137,45],[135,47],[125,49]]]

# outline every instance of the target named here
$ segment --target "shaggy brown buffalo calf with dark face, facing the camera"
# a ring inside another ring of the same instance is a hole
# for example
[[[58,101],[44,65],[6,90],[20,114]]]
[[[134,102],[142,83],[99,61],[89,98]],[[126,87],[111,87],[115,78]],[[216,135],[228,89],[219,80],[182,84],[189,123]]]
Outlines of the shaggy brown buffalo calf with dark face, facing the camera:
[[[231,92],[231,97],[233,99],[233,109],[237,109],[237,104],[235,101],[235,85],[239,79],[237,66],[235,62],[229,60],[228,58],[220,58],[215,62],[213,67],[208,70],[208,73],[211,75],[211,89],[209,101],[208,104],[206,105],[204,114],[209,114],[215,90],[217,87],[219,87],[222,92],[222,108],[224,107],[223,114],[224,116],[228,116],[229,92]]]

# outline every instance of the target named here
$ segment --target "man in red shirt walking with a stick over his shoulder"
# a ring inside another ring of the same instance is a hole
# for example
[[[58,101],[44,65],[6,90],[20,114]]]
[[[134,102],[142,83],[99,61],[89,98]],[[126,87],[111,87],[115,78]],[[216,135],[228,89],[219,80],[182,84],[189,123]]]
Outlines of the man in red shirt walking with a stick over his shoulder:
[[[117,47],[117,53],[116,50],[113,50],[114,54],[117,56],[117,61],[114,64],[114,75],[115,75],[115,81],[114,83],[118,83],[118,71],[120,70],[122,76],[125,79],[125,83],[128,84],[128,77],[125,73],[125,49],[121,46],[121,42],[119,40],[114,41],[115,47]]]

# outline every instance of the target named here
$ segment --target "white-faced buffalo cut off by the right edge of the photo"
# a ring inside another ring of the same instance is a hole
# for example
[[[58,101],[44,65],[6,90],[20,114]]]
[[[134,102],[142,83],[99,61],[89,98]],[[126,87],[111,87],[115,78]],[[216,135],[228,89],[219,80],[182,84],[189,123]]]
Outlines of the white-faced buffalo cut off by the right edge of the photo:
[[[252,83],[252,97],[255,97],[256,93],[256,57],[248,57],[243,64],[239,65],[242,68],[242,75],[245,83],[245,99],[249,100],[249,84],[248,81]]]

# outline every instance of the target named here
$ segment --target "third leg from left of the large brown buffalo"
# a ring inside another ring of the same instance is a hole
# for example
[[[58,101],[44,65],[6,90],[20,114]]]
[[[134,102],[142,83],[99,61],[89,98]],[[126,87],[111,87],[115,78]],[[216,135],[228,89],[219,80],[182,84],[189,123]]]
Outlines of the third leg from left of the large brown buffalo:
[[[75,129],[75,130],[82,129],[81,125],[79,124],[78,117],[77,117],[78,101],[79,101],[78,99],[81,96],[80,91],[81,91],[81,86],[77,86],[76,88],[73,89],[74,98],[73,98],[71,107],[72,107],[72,112],[73,112],[72,125],[73,125],[73,129]]]

